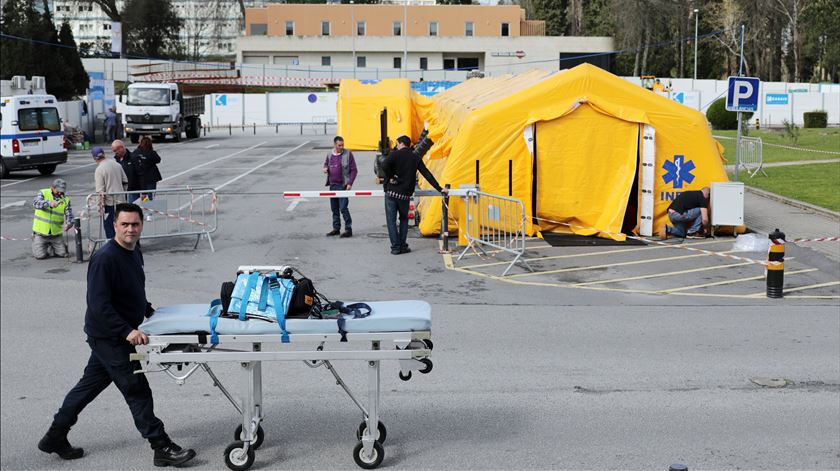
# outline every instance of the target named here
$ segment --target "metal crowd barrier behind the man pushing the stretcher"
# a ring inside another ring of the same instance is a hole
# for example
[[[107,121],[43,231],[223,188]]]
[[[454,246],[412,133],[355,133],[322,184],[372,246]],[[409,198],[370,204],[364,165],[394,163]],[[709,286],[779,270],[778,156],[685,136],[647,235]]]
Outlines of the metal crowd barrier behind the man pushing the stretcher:
[[[97,245],[107,240],[103,226],[103,202],[106,196],[113,196],[117,202],[136,203],[143,209],[146,221],[140,240],[194,235],[195,249],[201,236],[206,236],[210,250],[216,251],[210,237],[218,227],[216,191],[210,187],[187,187],[88,195],[84,210],[87,217],[84,219],[87,221],[85,232],[91,253]]]

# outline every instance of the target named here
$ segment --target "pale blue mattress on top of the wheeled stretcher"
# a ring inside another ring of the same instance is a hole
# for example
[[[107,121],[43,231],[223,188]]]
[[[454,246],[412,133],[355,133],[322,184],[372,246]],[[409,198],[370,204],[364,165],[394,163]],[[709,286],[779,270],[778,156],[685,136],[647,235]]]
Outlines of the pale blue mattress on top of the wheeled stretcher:
[[[432,309],[425,301],[380,301],[367,304],[371,308],[368,317],[353,319],[345,316],[344,330],[346,332],[407,332],[432,329]],[[207,311],[207,304],[163,306],[140,325],[140,330],[147,335],[209,333],[210,316]],[[335,319],[286,319],[286,330],[290,334],[329,334],[336,333],[338,326]],[[276,322],[220,318],[216,324],[216,333],[219,335],[280,335],[281,331]]]

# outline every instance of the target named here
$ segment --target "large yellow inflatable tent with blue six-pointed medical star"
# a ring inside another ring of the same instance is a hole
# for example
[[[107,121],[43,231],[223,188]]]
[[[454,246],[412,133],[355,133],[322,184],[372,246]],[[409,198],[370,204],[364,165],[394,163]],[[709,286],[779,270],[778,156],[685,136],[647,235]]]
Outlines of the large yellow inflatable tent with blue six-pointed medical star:
[[[470,79],[420,112],[437,180],[473,184],[478,161],[481,190],[512,190],[530,235],[656,234],[680,192],[727,181],[703,114],[589,64]],[[421,204],[420,231],[439,233],[439,200]]]

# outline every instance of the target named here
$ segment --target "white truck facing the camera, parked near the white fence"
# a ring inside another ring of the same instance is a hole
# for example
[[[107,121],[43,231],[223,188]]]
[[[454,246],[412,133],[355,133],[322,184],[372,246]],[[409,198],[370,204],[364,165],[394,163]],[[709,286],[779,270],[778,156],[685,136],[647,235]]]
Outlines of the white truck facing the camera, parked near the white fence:
[[[128,86],[123,114],[125,135],[137,143],[140,136],[196,138],[201,132],[204,96],[185,97],[177,83],[139,82]]]

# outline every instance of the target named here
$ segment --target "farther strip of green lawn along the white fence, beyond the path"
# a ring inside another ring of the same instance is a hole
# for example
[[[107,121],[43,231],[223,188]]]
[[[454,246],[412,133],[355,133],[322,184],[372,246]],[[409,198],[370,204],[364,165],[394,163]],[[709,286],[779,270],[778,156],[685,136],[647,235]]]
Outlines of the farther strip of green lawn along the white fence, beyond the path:
[[[750,129],[749,137],[760,137],[764,144],[777,144],[790,147],[801,147],[803,149],[818,149],[832,152],[840,152],[840,128],[828,129],[800,129],[799,140],[793,144],[785,138],[783,130]],[[712,131],[715,136],[726,136],[734,138],[736,131]],[[726,149],[724,157],[728,164],[735,163],[735,140],[719,139],[719,142]],[[806,150],[784,149],[765,145],[762,151],[764,162],[785,162],[791,160],[822,160],[840,158],[837,154],[820,154]]]

